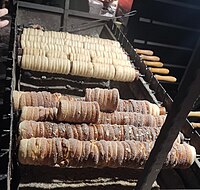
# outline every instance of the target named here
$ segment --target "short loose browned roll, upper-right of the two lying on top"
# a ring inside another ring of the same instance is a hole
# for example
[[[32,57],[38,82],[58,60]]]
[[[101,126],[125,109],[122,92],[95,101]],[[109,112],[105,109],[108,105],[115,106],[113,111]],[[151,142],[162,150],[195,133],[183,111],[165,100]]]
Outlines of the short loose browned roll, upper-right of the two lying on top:
[[[113,89],[86,88],[85,100],[89,102],[97,101],[101,111],[113,112],[119,103],[119,91]]]

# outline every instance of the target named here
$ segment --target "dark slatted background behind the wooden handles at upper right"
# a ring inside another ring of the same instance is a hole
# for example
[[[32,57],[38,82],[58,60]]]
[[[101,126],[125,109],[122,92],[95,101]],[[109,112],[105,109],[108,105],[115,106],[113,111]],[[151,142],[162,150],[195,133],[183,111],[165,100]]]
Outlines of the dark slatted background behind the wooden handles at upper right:
[[[200,1],[134,0],[132,10],[137,14],[129,19],[128,39],[134,47],[153,50],[177,78],[161,82],[174,98],[200,34]]]

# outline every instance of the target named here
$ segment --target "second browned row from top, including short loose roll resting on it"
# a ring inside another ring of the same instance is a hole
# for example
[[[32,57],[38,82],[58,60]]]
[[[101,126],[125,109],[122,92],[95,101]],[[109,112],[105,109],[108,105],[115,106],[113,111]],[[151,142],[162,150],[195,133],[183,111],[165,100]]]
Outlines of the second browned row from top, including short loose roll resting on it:
[[[59,108],[25,106],[20,121],[59,121],[70,123],[98,123],[162,127],[165,115],[153,116],[135,112],[100,112],[97,102],[61,100]]]

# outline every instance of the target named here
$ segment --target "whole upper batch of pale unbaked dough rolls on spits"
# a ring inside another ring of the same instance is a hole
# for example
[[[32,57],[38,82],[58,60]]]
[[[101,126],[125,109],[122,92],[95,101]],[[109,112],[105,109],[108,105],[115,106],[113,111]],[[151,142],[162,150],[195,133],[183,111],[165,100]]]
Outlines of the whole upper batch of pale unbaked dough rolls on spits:
[[[19,64],[25,70],[122,82],[139,76],[119,42],[112,40],[25,29],[21,48]]]

